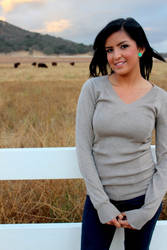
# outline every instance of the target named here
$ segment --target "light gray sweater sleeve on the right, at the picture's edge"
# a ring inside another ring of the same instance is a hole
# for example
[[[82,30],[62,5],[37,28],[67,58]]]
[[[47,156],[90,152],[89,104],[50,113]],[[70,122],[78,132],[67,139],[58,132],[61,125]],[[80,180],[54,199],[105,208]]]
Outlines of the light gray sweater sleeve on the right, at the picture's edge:
[[[129,224],[136,229],[141,229],[154,216],[167,191],[167,95],[165,97],[155,123],[155,173],[148,185],[144,205],[140,209],[126,212]]]

